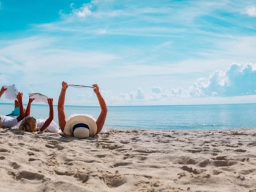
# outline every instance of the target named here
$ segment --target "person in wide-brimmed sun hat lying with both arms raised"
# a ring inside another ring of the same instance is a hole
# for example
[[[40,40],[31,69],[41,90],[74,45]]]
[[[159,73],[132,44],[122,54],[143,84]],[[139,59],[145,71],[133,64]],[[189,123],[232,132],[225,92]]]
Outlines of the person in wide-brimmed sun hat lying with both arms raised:
[[[89,136],[97,135],[103,128],[107,115],[107,106],[99,92],[98,85],[94,84],[93,86],[95,87],[94,92],[97,95],[101,108],[101,112],[97,121],[91,115],[85,114],[73,114],[67,120],[64,103],[68,85],[65,81],[62,82],[62,89],[58,99],[58,121],[59,127],[64,134],[68,136],[74,136],[76,138],[87,138]]]

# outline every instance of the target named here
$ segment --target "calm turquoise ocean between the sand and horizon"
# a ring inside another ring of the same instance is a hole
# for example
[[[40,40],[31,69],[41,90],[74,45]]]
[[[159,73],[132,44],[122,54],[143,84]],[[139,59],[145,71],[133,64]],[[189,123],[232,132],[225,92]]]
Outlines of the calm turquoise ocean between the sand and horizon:
[[[13,104],[0,104],[0,115],[13,110]],[[91,114],[100,107],[66,106],[67,117],[73,113]],[[31,115],[47,118],[47,105],[33,104]],[[57,106],[54,121],[58,123]],[[106,128],[147,130],[212,130],[256,128],[256,104],[176,105],[176,106],[108,106]]]

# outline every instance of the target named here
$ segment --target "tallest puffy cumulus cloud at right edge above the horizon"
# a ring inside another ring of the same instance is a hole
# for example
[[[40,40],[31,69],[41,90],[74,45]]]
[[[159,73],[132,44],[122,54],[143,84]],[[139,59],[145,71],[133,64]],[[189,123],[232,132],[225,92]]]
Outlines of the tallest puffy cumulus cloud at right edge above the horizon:
[[[233,64],[225,72],[215,71],[208,78],[199,78],[189,93],[194,97],[254,95],[256,65]]]

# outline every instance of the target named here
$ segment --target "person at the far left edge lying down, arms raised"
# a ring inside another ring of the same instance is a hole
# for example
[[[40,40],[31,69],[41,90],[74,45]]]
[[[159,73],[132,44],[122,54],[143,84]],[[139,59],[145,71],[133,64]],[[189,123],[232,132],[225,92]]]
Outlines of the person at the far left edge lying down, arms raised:
[[[7,90],[6,88],[2,87],[1,91],[0,91],[0,98],[3,95],[3,93],[5,92],[5,90]],[[17,100],[19,103],[19,116],[17,118],[13,118],[10,116],[0,116],[0,127],[5,127],[5,128],[11,128],[13,126],[16,126],[18,124],[18,122],[20,122],[25,114],[24,114],[24,107],[23,107],[23,103],[22,103],[22,96],[23,93],[19,92],[17,95]]]

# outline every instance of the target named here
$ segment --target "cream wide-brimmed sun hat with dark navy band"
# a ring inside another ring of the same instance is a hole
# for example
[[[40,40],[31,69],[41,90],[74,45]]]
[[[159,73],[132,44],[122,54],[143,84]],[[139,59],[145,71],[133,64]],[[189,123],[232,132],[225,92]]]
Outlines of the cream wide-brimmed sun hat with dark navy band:
[[[76,138],[95,136],[97,132],[96,120],[91,115],[74,114],[66,122],[64,131],[66,135]]]

